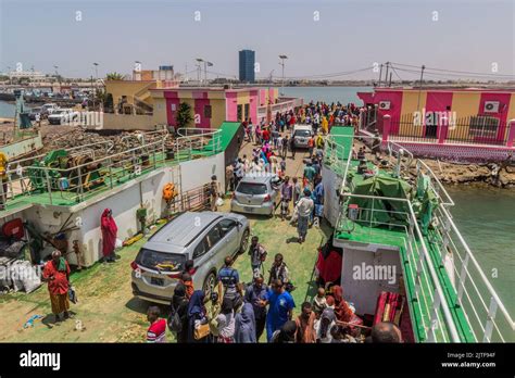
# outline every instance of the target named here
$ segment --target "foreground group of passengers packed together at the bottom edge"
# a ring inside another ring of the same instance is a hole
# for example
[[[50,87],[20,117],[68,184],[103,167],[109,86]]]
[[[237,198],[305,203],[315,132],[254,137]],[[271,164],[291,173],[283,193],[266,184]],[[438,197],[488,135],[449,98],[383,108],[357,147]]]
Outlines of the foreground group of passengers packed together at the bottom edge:
[[[266,257],[265,248],[254,237],[249,248],[251,266]],[[217,275],[217,287],[209,293],[194,290],[192,262],[185,265],[171,303],[168,319],[161,318],[160,307],[148,310],[148,342],[165,342],[166,325],[179,343],[256,343],[266,331],[269,343],[357,343],[402,342],[401,331],[392,323],[378,323],[365,338],[363,322],[352,303],[343,299],[340,286],[327,291],[319,288],[312,302],[304,302],[293,316],[296,303],[288,268],[277,254],[268,272],[268,284],[262,274],[254,274],[244,286],[226,257]],[[217,289],[217,290],[216,290]]]

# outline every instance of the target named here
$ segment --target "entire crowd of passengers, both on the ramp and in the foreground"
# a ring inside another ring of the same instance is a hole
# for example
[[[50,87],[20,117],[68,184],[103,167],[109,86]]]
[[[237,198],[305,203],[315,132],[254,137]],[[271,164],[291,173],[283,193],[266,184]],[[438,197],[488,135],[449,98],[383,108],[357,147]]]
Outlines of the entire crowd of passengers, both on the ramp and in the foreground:
[[[242,126],[247,141],[253,143],[252,155],[243,154],[227,167],[226,191],[234,191],[248,174],[276,175],[279,216],[296,225],[298,241],[304,242],[310,226],[323,215],[324,136],[334,125],[355,125],[359,113],[360,109],[353,104],[310,103],[297,112],[278,113],[269,123],[262,119],[254,126],[252,119],[246,119]],[[299,123],[312,125],[313,136],[302,177],[289,177],[287,159],[296,156],[289,135]],[[216,177],[212,178],[212,187],[217,192]],[[159,307],[149,308],[148,341],[165,341],[167,323],[177,342],[188,343],[255,343],[262,340],[263,333],[271,343],[401,342],[400,330],[393,324],[379,323],[372,330],[365,327],[338,285],[318,288],[313,300],[302,303],[300,314],[293,316],[297,305],[291,292],[296,287],[284,255],[277,253],[265,273],[267,251],[259,237],[253,236],[248,256],[253,274],[251,284],[246,286],[240,281],[233,259],[227,256],[216,286],[209,292],[193,288],[190,272],[193,264],[188,261],[175,288],[167,322],[160,318]]]

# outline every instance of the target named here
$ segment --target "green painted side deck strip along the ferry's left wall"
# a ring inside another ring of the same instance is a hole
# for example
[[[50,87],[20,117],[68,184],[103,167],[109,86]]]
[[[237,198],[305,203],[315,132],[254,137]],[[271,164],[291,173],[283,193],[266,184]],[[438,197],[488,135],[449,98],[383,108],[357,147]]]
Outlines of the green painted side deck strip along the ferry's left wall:
[[[155,169],[223,152],[233,140],[234,136],[238,131],[239,126],[239,122],[224,122],[219,127],[219,136],[217,138],[211,138],[203,149],[179,151],[173,160],[166,160],[164,154],[161,152],[155,153],[155,155],[150,155],[150,166],[142,167],[141,174],[138,176],[129,172],[129,166],[112,168],[111,173],[108,168],[105,168],[103,171],[105,174],[103,176],[104,184],[90,191],[85,191],[81,196],[79,196],[76,190],[73,189],[67,191],[52,190],[50,194],[47,190],[35,190],[29,194],[16,196],[15,198],[8,200],[7,210],[0,211],[0,217],[28,209],[35,204],[73,206],[105,193],[111,189],[121,187],[136,178],[145,178]]]

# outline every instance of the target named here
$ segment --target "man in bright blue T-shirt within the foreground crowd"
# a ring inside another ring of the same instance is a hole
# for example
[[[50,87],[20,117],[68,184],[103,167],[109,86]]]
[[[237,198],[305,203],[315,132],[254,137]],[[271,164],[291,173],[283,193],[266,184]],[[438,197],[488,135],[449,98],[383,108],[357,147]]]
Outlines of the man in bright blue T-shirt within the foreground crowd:
[[[276,279],[273,282],[273,290],[268,290],[264,304],[269,304],[268,316],[266,317],[266,339],[269,342],[272,336],[282,325],[291,320],[291,315],[296,303],[291,294],[285,290],[282,281]]]

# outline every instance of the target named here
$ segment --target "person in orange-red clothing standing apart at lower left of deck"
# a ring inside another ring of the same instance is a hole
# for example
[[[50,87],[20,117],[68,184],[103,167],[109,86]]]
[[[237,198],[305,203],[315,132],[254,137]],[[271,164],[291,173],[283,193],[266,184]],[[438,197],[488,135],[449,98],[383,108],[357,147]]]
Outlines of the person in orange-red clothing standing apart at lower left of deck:
[[[55,323],[67,319],[70,314],[70,265],[60,251],[52,252],[52,260],[45,264],[42,281],[48,282],[52,314]],[[63,314],[63,317],[61,317]]]

